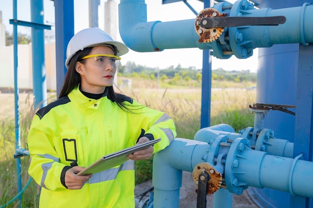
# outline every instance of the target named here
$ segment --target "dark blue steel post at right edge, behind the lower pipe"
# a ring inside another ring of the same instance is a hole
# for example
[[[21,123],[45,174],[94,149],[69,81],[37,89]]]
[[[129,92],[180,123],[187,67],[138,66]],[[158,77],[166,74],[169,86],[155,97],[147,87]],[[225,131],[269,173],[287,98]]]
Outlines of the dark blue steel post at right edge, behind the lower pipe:
[[[297,70],[296,89],[296,122],[294,132],[293,157],[301,152],[304,160],[312,161],[313,153],[313,124],[312,124],[312,96],[313,96],[313,45],[303,46],[299,44],[299,58]],[[292,196],[290,208],[313,208],[312,199]]]

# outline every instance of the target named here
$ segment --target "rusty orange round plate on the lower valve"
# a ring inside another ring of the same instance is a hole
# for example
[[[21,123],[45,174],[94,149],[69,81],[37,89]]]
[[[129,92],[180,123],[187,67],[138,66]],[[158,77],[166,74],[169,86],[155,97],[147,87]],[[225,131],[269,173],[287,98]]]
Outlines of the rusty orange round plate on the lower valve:
[[[196,185],[195,193],[198,190],[198,177],[200,173],[206,172],[209,175],[209,180],[207,182],[206,195],[214,194],[221,186],[222,176],[214,166],[209,163],[199,163],[194,166],[192,171],[193,182]]]

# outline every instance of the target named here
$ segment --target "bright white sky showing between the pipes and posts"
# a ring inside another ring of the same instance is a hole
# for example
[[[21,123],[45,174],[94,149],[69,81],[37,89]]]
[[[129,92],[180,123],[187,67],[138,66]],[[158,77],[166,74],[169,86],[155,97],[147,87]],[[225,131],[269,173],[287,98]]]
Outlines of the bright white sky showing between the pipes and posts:
[[[100,0],[100,11],[104,11],[104,1]],[[115,0],[119,3],[119,0]],[[232,2],[233,0],[228,0]],[[192,8],[197,12],[203,9],[203,3],[199,0],[187,1]],[[188,8],[182,1],[162,4],[162,0],[145,0],[147,4],[147,21],[175,21],[195,18],[196,15]],[[0,0],[0,10],[2,11],[2,23],[8,32],[12,32],[13,26],[9,24],[9,19],[13,17],[12,14],[12,0]],[[52,25],[51,31],[54,32],[54,5],[51,0],[43,0],[44,5],[44,23]],[[160,12],[161,11],[161,12]],[[104,18],[103,12],[99,12],[99,27],[104,28],[101,18]],[[30,21],[30,0],[17,0],[17,19],[23,21]],[[74,32],[88,26],[88,0],[74,0]],[[117,26],[118,29],[118,26]],[[18,26],[18,32],[30,34],[30,28]],[[116,40],[121,41],[117,31]],[[196,69],[202,68],[202,50],[199,48],[182,48],[182,49],[165,49],[160,52],[136,52],[129,50],[129,52],[121,57],[121,63],[125,64],[127,61],[133,61],[147,67],[158,67],[160,69],[169,66],[176,67],[178,64],[181,67],[193,66]],[[253,56],[247,59],[238,59],[231,56],[229,59],[212,58],[212,69],[223,68],[225,70],[247,70],[252,72],[257,70],[257,49],[253,50]]]

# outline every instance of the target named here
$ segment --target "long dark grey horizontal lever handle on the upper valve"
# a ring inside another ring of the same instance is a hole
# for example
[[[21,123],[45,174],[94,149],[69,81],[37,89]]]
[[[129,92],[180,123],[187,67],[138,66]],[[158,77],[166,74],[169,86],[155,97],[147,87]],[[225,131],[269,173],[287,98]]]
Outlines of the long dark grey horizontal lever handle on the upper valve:
[[[203,28],[212,27],[237,27],[245,25],[278,25],[286,21],[285,16],[265,16],[265,17],[246,17],[246,16],[221,16],[204,17],[200,21]]]

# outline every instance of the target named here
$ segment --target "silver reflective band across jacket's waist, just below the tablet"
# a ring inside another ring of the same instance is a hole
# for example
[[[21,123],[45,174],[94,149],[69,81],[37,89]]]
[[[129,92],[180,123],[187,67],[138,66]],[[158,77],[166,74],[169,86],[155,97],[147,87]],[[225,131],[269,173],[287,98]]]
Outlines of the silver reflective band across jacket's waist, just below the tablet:
[[[127,160],[119,168],[111,168],[111,169],[93,174],[93,176],[89,179],[89,183],[95,184],[95,183],[100,183],[103,181],[114,180],[117,174],[119,173],[119,171],[132,171],[132,170],[134,170],[134,161]]]

